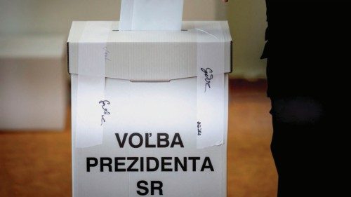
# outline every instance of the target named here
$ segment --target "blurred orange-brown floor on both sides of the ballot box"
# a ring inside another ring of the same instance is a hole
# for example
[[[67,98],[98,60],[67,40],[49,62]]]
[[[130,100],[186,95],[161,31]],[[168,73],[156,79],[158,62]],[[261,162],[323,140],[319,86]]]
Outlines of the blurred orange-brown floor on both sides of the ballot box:
[[[277,196],[265,89],[265,81],[230,81],[227,196]],[[0,130],[0,196],[70,196],[69,119],[63,133]]]

